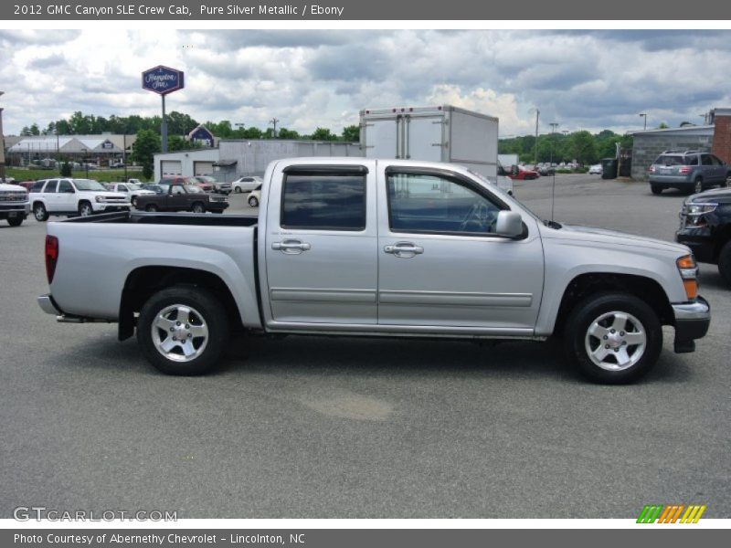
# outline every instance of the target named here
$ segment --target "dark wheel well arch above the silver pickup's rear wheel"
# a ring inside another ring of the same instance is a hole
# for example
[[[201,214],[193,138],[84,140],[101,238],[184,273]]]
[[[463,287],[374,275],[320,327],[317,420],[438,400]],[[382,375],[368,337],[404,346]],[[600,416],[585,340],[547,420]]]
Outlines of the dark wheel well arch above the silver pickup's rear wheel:
[[[134,313],[159,290],[174,285],[192,285],[214,293],[226,309],[228,321],[234,329],[243,327],[236,301],[226,283],[206,270],[179,267],[142,267],[130,272],[122,289],[120,302],[119,339],[123,341],[134,333]]]

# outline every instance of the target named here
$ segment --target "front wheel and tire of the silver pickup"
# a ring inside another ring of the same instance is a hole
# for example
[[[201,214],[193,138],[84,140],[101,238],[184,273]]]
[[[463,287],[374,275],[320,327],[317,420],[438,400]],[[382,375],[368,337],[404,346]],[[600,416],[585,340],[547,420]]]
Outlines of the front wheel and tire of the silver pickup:
[[[590,295],[567,318],[564,350],[567,360],[591,381],[624,385],[657,362],[662,325],[655,311],[633,295]]]

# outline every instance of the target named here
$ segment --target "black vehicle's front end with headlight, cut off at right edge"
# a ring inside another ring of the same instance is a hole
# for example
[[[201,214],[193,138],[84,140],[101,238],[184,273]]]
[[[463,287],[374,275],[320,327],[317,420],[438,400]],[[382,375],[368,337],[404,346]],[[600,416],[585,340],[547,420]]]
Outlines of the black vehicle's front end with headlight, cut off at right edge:
[[[718,265],[718,272],[731,287],[731,189],[688,196],[675,239],[693,249],[698,261]]]

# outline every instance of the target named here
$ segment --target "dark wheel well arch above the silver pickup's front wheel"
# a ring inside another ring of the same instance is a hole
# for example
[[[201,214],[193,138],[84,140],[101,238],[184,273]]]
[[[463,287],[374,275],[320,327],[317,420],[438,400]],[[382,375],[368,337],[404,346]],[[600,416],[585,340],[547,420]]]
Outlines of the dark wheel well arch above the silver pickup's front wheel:
[[[674,322],[670,300],[668,300],[661,285],[654,279],[632,274],[591,273],[577,276],[568,284],[561,299],[561,305],[558,308],[554,332],[560,333],[563,331],[568,314],[579,301],[584,300],[592,293],[601,291],[630,293],[630,295],[634,295],[649,304],[662,325],[672,325]]]

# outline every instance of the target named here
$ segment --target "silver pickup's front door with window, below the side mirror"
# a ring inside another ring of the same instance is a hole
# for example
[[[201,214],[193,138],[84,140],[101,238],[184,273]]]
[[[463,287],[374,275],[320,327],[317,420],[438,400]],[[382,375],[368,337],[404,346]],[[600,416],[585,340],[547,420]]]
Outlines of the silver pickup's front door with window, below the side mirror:
[[[509,206],[443,170],[379,171],[378,190],[379,324],[533,333],[544,278],[533,218],[523,237],[498,236]]]

